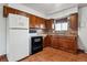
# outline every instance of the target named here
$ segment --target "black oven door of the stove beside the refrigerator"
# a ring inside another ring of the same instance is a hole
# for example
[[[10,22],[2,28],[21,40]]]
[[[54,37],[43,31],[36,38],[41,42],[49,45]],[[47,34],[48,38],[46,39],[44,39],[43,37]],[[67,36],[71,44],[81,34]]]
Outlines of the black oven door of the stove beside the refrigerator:
[[[32,54],[42,51],[43,48],[43,37],[42,36],[32,36]]]

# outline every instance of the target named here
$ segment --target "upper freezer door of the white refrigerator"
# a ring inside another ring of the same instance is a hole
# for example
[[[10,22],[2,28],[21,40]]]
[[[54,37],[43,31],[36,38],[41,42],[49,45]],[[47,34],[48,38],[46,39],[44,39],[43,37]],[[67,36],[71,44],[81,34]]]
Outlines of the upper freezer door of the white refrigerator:
[[[9,28],[29,29],[29,18],[18,14],[9,14]]]

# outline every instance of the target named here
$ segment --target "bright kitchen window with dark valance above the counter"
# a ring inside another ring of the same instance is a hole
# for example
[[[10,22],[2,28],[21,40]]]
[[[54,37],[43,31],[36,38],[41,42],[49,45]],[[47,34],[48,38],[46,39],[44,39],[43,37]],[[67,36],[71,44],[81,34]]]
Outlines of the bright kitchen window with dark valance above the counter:
[[[56,23],[55,23],[56,31],[67,31],[67,29],[68,29],[67,21],[63,21],[63,20],[56,21]]]

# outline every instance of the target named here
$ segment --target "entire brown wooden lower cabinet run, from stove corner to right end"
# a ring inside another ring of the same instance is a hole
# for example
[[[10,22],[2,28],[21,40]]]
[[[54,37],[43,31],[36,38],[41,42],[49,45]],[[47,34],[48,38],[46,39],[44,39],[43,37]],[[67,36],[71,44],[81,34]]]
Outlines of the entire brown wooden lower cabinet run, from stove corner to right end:
[[[77,53],[77,36],[47,35],[44,37],[44,47],[45,46]]]

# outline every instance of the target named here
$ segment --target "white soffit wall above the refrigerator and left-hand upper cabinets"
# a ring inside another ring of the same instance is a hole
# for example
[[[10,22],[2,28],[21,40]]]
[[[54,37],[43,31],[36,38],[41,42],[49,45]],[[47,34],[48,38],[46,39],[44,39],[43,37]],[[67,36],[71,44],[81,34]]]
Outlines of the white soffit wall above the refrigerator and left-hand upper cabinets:
[[[29,13],[34,14],[34,15],[39,15],[39,17],[45,18],[45,14],[43,14],[43,13],[41,13],[39,11],[35,11],[35,10],[33,10],[33,9],[26,7],[26,6],[23,6],[21,3],[10,3],[8,6],[11,7],[11,8],[14,8],[14,9],[19,9],[21,11],[29,12]]]

